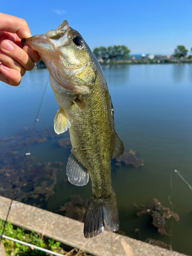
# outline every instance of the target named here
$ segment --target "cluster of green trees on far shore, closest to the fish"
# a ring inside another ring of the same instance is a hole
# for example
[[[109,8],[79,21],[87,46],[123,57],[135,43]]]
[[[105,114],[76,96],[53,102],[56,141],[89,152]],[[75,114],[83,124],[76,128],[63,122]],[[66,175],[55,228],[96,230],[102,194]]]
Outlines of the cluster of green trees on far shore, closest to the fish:
[[[93,53],[97,59],[106,60],[120,60],[127,59],[130,56],[130,50],[126,46],[109,46],[105,48],[103,46],[95,48]]]

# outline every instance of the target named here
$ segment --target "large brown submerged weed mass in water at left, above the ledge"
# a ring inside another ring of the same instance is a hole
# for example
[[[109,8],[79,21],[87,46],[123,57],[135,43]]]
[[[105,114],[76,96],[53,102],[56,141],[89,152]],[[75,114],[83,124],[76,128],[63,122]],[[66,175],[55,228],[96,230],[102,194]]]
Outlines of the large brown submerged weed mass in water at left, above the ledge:
[[[0,140],[0,195],[7,198],[12,198],[15,195],[15,200],[24,202],[28,198],[39,198],[39,203],[34,203],[33,205],[40,207],[43,202],[46,202],[54,194],[56,173],[62,163],[58,161],[33,164],[34,159],[27,157],[18,186],[17,179],[24,161],[24,156],[19,154],[18,150],[26,147],[30,134],[31,130],[25,129],[20,133]],[[54,133],[53,127],[48,127],[47,129],[35,132],[31,143],[43,143],[55,136],[58,135]],[[42,178],[46,180],[39,183],[39,180]],[[30,191],[28,191],[28,186],[31,187]],[[14,194],[16,187],[16,194]]]

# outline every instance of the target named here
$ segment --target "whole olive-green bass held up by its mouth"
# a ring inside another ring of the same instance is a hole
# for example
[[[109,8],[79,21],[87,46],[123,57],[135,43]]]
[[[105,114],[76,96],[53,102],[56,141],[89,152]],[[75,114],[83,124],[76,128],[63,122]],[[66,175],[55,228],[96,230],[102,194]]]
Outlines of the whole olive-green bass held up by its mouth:
[[[92,195],[84,218],[84,237],[103,230],[117,231],[117,199],[112,186],[111,160],[124,147],[114,126],[114,110],[101,66],[67,20],[56,30],[22,39],[36,50],[49,70],[59,109],[54,118],[57,134],[69,129],[72,151],[67,163],[70,183],[92,182]]]

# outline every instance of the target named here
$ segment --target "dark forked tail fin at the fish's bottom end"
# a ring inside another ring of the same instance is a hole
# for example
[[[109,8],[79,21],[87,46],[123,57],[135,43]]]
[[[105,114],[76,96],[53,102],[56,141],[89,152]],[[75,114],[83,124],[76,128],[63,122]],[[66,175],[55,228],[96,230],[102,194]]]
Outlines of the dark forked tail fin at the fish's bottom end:
[[[115,192],[106,198],[91,197],[84,218],[84,237],[92,238],[108,226],[110,231],[119,229],[119,217]]]

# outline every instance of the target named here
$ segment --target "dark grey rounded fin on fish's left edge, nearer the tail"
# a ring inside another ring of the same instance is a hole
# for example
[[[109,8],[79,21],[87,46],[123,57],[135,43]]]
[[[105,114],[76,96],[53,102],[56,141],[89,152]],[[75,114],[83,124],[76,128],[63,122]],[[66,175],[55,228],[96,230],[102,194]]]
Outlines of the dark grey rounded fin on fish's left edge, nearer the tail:
[[[69,156],[67,164],[67,175],[69,182],[76,186],[84,186],[89,181],[89,174],[86,168],[84,168],[82,164],[77,160],[73,151]]]

